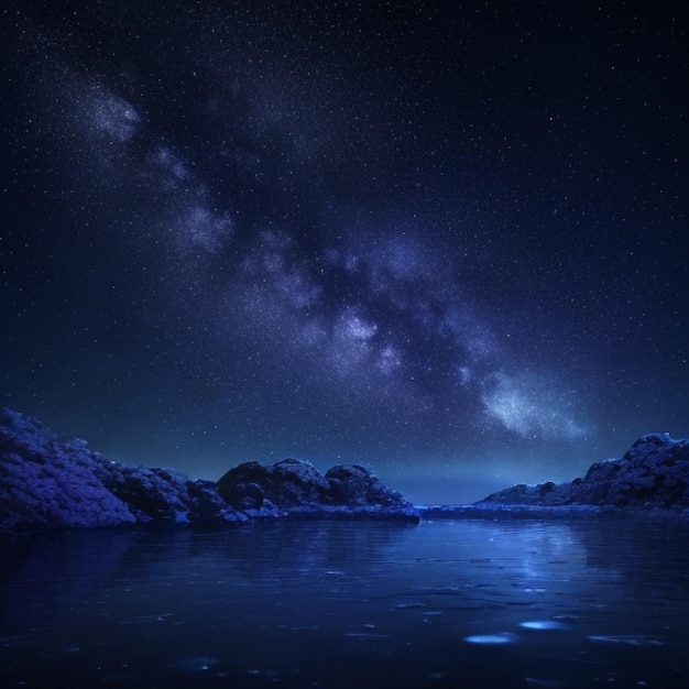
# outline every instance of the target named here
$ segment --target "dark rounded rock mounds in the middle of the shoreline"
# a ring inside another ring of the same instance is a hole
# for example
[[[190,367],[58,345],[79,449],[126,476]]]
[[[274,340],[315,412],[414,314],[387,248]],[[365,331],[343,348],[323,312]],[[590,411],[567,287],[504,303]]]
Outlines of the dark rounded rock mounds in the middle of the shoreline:
[[[418,520],[411,503],[358,464],[339,464],[322,475],[298,459],[267,467],[244,462],[218,481],[218,490],[228,504],[252,516],[378,514]]]

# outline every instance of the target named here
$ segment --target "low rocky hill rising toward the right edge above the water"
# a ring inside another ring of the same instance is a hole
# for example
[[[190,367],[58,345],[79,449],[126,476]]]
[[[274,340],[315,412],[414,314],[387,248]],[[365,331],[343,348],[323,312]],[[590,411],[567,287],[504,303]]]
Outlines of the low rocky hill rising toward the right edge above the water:
[[[689,441],[667,434],[643,436],[622,459],[592,464],[568,483],[518,484],[477,503],[561,507],[594,505],[689,512]]]

